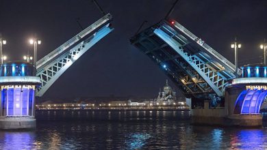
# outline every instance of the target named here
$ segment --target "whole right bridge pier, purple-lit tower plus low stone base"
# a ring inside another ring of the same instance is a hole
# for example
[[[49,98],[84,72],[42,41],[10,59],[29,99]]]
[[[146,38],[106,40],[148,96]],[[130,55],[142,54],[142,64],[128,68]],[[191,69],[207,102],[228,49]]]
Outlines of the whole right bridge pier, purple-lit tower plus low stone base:
[[[192,123],[262,127],[262,115],[259,110],[267,100],[267,67],[263,65],[245,65],[242,78],[234,78],[225,88],[225,107],[192,109]]]

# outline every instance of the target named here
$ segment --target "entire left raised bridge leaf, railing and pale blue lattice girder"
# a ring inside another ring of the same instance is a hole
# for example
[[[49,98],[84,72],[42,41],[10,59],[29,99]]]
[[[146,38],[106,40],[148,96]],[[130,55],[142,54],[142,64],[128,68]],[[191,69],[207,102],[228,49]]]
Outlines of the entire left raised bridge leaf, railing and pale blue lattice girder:
[[[103,16],[36,63],[36,76],[41,80],[40,87],[36,89],[37,96],[42,96],[81,55],[113,31],[111,19],[111,14]]]

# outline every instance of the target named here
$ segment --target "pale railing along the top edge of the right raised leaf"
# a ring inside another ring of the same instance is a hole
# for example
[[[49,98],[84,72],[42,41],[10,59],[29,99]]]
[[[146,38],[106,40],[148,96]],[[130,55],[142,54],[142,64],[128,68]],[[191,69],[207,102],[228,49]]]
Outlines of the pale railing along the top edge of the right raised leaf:
[[[186,35],[188,35],[188,37],[190,37],[192,40],[196,41],[200,46],[205,48],[205,50],[207,50],[207,52],[212,54],[219,61],[222,61],[223,63],[225,63],[225,65],[227,65],[227,67],[229,67],[231,69],[231,72],[235,72],[236,71],[236,65],[233,65],[233,63],[228,61],[225,57],[223,57],[223,55],[220,55],[220,53],[218,53],[212,47],[210,47],[209,45],[205,44],[205,42],[201,41],[201,39],[199,37],[194,35],[192,32],[188,31],[188,29],[186,29],[185,27],[183,27],[181,24],[177,23],[176,21],[175,21],[174,26],[177,29],[179,29],[180,31],[182,31],[183,33],[185,33]],[[240,69],[238,69],[238,74],[241,74],[241,70]]]

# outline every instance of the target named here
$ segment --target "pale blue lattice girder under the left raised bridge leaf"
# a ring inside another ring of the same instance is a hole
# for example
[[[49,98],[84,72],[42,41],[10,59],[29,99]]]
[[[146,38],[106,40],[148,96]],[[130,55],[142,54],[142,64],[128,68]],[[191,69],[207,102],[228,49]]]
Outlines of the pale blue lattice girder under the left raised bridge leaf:
[[[110,28],[110,24],[108,23],[90,37],[87,37],[76,44],[70,50],[67,50],[63,54],[58,54],[60,56],[58,56],[57,59],[53,59],[53,61],[49,62],[47,65],[39,67],[36,76],[40,77],[42,83],[40,87],[36,89],[36,95],[42,96],[44,92],[51,87],[53,82],[55,82],[55,80],[68,69],[68,67],[111,31],[113,31],[113,29]]]

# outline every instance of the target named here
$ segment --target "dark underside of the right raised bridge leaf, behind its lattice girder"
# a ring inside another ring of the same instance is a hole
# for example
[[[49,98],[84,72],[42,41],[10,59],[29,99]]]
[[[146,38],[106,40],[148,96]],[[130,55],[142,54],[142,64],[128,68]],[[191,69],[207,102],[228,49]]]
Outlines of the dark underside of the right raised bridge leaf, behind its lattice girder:
[[[160,65],[185,95],[194,95],[195,97],[203,97],[204,95],[207,97],[208,94],[214,93],[205,80],[195,72],[194,68],[181,59],[173,48],[170,48],[154,33],[141,34],[140,39],[135,40],[135,42],[132,41],[132,44],[140,48],[157,65]]]

